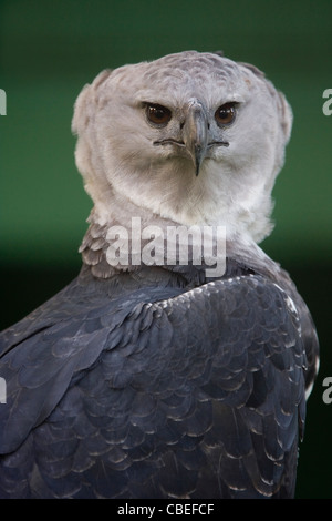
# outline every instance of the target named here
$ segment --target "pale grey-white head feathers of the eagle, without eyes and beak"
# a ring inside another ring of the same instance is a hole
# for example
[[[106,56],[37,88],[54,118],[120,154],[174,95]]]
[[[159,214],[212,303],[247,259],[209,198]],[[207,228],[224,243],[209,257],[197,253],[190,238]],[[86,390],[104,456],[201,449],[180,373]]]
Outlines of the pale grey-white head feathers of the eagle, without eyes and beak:
[[[176,147],[155,145],[180,139],[193,100],[204,108],[211,135],[229,143],[209,151],[198,176]],[[169,123],[152,126],[144,102],[169,109]],[[215,112],[228,102],[237,103],[236,118],[220,129]],[[131,216],[226,225],[228,238],[260,242],[271,231],[271,191],[291,123],[284,96],[260,71],[218,54],[187,51],[103,71],[81,92],[73,118],[93,218],[122,222],[129,207]]]

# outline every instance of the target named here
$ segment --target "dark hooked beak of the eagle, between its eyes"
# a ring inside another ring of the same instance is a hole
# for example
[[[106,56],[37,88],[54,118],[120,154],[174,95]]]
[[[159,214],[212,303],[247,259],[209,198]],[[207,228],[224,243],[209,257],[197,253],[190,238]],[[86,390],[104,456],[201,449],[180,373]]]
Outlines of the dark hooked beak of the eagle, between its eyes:
[[[197,176],[207,151],[208,122],[204,106],[196,100],[188,106],[184,124],[184,143],[193,159]]]

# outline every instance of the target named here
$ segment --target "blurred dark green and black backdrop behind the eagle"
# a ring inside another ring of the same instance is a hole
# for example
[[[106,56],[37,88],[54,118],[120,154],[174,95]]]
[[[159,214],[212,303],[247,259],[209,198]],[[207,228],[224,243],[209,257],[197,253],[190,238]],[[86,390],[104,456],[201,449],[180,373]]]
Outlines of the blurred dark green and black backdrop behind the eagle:
[[[224,50],[262,69],[294,112],[273,192],[276,228],[262,247],[288,269],[321,339],[309,401],[298,498],[332,498],[330,351],[332,116],[331,0],[0,0],[1,329],[79,272],[91,201],[74,165],[73,104],[105,68],[172,52]]]

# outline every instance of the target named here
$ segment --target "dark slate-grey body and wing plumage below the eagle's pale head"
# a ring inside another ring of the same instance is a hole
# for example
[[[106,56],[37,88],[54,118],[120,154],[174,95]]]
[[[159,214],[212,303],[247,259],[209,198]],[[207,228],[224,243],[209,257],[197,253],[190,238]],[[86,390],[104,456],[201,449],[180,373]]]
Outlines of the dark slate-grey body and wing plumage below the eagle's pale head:
[[[318,340],[288,274],[236,236],[218,278],[117,270],[106,232],[0,336],[0,497],[292,497]]]

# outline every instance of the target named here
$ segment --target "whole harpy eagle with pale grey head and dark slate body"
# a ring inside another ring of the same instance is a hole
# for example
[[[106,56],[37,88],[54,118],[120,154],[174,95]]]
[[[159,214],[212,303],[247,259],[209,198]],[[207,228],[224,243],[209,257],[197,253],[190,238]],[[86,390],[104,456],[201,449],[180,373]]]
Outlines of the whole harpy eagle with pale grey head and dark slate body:
[[[263,73],[219,53],[106,70],[83,89],[83,266],[1,334],[1,498],[293,497],[318,339],[257,245],[291,122]],[[166,232],[193,226],[225,229],[222,252],[208,259],[188,233],[183,262],[178,233],[167,262]]]

